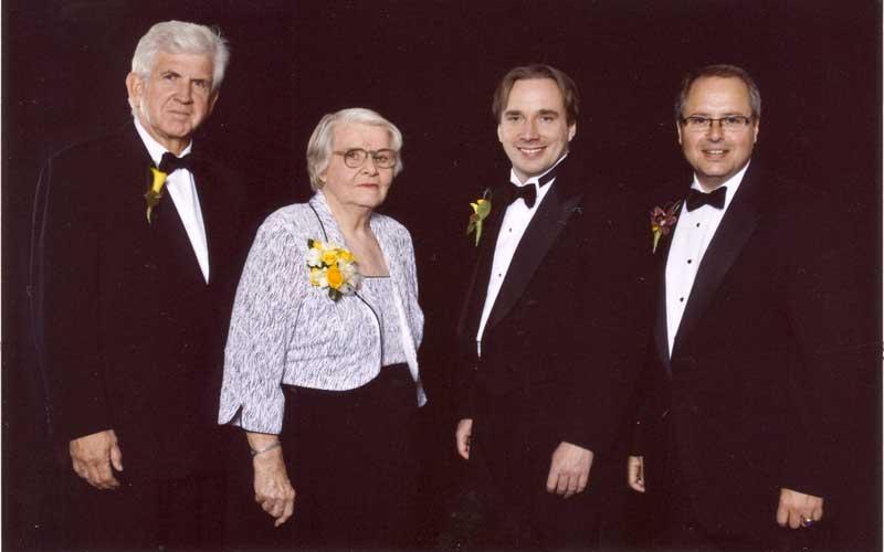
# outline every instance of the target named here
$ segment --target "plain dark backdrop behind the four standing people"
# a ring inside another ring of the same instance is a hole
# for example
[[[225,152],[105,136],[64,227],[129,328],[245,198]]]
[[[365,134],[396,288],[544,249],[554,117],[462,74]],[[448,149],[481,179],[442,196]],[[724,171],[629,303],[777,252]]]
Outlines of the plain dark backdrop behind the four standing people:
[[[150,24],[168,19],[217,24],[230,40],[221,98],[198,139],[204,150],[248,171],[251,193],[264,212],[308,197],[304,150],[323,114],[371,107],[403,131],[406,171],[385,211],[414,236],[427,312],[427,539],[459,475],[448,339],[470,269],[463,235],[467,202],[491,179],[506,178],[490,104],[512,66],[544,62],[575,78],[582,110],[572,150],[610,180],[646,190],[649,208],[675,199],[672,194],[690,182],[672,116],[682,75],[708,63],[744,66],[764,97],[756,159],[846,205],[844,224],[856,236],[852,253],[862,291],[881,305],[878,1],[7,0],[4,548],[59,545],[59,467],[46,437],[27,316],[30,213],[39,170],[60,148],[129,120],[124,79],[135,44]],[[91,177],[84,174],[84,182]],[[671,182],[678,183],[675,191]],[[808,240],[813,235],[814,221],[808,221]],[[880,336],[880,321],[869,322]],[[867,414],[854,428],[853,479],[863,513],[841,530],[845,548],[880,549],[878,368],[870,367],[867,395],[857,397]]]

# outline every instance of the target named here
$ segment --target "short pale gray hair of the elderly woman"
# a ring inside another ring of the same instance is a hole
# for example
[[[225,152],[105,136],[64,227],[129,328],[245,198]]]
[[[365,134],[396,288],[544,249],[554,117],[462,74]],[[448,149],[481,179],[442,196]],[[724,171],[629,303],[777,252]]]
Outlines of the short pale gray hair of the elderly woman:
[[[390,134],[390,148],[397,153],[402,149],[402,132],[396,125],[380,116],[377,112],[365,107],[350,107],[339,112],[329,113],[319,120],[307,142],[307,172],[311,177],[311,189],[314,191],[323,187],[319,174],[328,169],[332,160],[332,149],[335,147],[335,128],[337,125],[370,125],[382,127]],[[402,158],[398,157],[393,167],[393,177],[402,172]]]

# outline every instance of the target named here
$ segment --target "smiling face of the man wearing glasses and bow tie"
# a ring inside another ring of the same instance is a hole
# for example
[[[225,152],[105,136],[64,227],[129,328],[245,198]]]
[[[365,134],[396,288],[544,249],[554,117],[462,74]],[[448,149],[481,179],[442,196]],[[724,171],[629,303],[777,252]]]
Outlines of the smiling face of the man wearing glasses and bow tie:
[[[717,119],[728,115],[753,116],[749,88],[743,81],[711,76],[697,78],[691,85],[682,117]],[[718,188],[746,167],[758,139],[758,120],[755,119],[728,130],[717,123],[699,132],[687,130],[681,123],[675,126],[684,157],[706,190]]]

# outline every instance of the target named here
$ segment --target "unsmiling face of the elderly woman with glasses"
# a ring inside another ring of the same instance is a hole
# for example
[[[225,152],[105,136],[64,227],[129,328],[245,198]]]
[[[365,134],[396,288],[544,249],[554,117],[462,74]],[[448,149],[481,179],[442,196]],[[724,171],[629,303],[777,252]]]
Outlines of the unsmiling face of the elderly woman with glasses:
[[[344,152],[361,148],[366,151],[390,149],[390,132],[383,127],[364,124],[337,124],[334,127],[328,168],[319,174],[323,192],[329,203],[345,208],[375,209],[387,198],[393,180],[393,168],[381,169],[369,155],[361,166],[347,167]]]

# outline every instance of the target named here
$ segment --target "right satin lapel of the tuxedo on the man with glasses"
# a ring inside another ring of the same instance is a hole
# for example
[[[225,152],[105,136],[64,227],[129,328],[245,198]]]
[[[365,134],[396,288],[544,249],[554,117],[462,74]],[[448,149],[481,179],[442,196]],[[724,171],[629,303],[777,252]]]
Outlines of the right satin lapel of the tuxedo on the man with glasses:
[[[687,299],[687,307],[682,316],[678,332],[675,335],[673,351],[677,350],[681,343],[691,336],[712,302],[722,280],[758,226],[758,220],[761,216],[759,210],[760,189],[760,177],[750,167],[699,264],[694,287]]]

